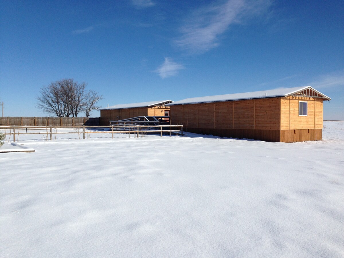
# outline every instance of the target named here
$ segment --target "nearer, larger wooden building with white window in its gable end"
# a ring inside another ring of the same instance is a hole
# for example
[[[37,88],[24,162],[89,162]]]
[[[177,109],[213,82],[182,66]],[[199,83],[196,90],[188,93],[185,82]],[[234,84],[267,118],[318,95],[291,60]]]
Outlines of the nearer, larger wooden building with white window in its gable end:
[[[322,139],[323,101],[312,87],[188,98],[168,104],[187,132],[270,142]]]

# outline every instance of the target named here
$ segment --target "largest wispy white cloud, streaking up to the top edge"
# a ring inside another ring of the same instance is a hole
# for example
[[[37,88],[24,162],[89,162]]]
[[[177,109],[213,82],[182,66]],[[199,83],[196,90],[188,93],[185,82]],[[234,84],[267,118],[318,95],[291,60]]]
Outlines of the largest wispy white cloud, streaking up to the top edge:
[[[228,27],[265,13],[270,0],[227,0],[196,10],[180,29],[182,36],[175,43],[191,52],[203,53],[218,46],[218,37]]]

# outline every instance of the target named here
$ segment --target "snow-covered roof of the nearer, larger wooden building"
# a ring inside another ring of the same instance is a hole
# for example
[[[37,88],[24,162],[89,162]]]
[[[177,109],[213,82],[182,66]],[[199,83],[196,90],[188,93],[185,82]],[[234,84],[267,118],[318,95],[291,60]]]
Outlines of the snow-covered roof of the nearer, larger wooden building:
[[[322,97],[326,100],[331,99],[325,96],[324,94],[318,92],[317,90],[313,89],[312,87],[305,86],[305,87],[296,87],[296,88],[262,90],[259,92],[246,92],[246,93],[225,94],[225,95],[197,97],[197,98],[186,98],[179,101],[175,101],[167,105],[171,106],[171,105],[179,105],[179,104],[195,104],[195,103],[207,103],[207,102],[218,102],[218,101],[229,101],[229,100],[286,97],[305,89],[314,90],[318,94],[322,95]]]

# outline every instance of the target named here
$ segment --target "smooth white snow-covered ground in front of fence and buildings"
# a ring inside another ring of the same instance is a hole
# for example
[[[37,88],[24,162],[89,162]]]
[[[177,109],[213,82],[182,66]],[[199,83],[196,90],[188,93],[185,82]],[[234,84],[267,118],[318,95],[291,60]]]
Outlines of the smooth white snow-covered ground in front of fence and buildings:
[[[0,154],[0,257],[344,257],[344,122],[299,143],[22,139],[36,152]]]

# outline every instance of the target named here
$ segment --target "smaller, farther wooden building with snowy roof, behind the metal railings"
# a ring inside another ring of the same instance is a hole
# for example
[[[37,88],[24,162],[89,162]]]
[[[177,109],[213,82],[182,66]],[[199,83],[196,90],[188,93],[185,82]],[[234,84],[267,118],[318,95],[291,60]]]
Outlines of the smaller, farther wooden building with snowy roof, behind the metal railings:
[[[170,116],[172,100],[150,101],[141,103],[119,104],[100,108],[100,125],[107,126],[111,120],[122,120],[139,116]]]

